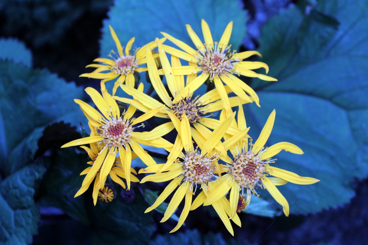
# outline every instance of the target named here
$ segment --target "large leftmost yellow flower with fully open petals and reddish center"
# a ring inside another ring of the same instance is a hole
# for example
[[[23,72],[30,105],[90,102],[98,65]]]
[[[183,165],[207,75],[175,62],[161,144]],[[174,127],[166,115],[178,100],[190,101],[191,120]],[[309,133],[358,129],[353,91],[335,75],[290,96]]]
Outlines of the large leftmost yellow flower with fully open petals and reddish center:
[[[132,118],[136,108],[134,106],[129,106],[127,111],[124,111],[124,113],[120,114],[120,109],[116,101],[107,92],[103,82],[101,82],[102,96],[93,88],[86,88],[85,91],[89,96],[91,96],[91,99],[101,113],[82,100],[75,99],[74,101],[79,104],[89,123],[96,128],[97,135],[76,139],[66,143],[61,147],[63,148],[68,146],[84,145],[95,142],[101,145],[102,150],[99,153],[100,157],[97,157],[96,161],[92,165],[91,170],[89,170],[82,183],[82,185],[85,185],[91,180],[91,178],[96,176],[100,170],[100,188],[105,186],[106,177],[112,169],[117,153],[119,153],[120,159],[122,160],[122,167],[125,172],[128,189],[130,189],[130,166],[132,150],[147,166],[151,166],[155,165],[156,162],[150,155],[148,155],[148,153],[144,151],[139,143],[168,149],[173,146],[172,143],[161,138],[162,135],[156,134],[155,138],[146,139],[145,134],[147,132],[134,132],[135,128],[144,126],[144,124],[141,124],[134,127],[135,125],[142,123],[148,118],[154,116],[156,113],[158,113],[158,111],[162,110],[162,107],[148,111],[137,118]],[[153,129],[153,131],[154,130],[155,129]]]

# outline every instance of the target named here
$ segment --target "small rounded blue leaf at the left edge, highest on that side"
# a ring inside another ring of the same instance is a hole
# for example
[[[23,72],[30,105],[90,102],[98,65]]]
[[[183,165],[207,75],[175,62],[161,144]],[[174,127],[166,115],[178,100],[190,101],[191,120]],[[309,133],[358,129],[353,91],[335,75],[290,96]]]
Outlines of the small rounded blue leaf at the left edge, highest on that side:
[[[0,47],[0,60],[11,60],[26,67],[32,66],[32,53],[23,42],[14,38],[0,38]]]

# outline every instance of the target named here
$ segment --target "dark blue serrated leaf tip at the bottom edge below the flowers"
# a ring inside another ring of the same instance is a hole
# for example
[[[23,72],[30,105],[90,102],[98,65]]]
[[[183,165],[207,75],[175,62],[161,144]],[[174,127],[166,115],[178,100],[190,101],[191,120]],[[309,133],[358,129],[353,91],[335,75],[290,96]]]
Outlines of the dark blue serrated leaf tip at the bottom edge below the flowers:
[[[236,245],[248,244],[247,242],[236,242],[234,239],[225,240],[220,233],[201,234],[198,230],[185,230],[184,232],[175,232],[173,234],[158,235],[149,245],[171,245],[177,244],[190,245]]]

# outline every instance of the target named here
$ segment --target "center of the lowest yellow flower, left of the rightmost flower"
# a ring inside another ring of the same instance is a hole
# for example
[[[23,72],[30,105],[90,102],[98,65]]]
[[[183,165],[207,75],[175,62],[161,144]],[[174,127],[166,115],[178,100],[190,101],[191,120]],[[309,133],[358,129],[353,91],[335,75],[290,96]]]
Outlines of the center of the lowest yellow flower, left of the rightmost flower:
[[[211,157],[199,154],[197,150],[194,152],[185,152],[183,161],[183,173],[185,181],[190,181],[192,184],[206,184],[212,181],[215,170],[212,161],[217,160],[217,156]]]

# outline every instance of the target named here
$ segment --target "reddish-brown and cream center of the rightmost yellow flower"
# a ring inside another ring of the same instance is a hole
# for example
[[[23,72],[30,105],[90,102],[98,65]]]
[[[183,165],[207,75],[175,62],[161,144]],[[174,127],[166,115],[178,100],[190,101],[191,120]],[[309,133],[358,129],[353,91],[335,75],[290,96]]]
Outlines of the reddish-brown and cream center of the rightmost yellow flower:
[[[268,166],[251,151],[243,151],[234,157],[230,173],[242,188],[254,191],[255,186],[261,186],[261,178]]]

